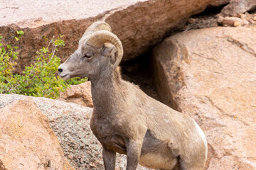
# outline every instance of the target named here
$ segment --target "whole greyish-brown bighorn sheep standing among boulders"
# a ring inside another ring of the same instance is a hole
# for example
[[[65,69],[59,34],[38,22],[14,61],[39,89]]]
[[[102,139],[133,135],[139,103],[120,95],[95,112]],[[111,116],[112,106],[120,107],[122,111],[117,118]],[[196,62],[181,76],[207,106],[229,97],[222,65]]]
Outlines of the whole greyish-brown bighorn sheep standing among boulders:
[[[88,77],[94,104],[90,128],[103,147],[106,170],[114,170],[116,152],[127,154],[127,170],[201,170],[207,142],[196,122],[122,80],[121,41],[105,22],[93,23],[78,50],[58,67],[63,79]]]

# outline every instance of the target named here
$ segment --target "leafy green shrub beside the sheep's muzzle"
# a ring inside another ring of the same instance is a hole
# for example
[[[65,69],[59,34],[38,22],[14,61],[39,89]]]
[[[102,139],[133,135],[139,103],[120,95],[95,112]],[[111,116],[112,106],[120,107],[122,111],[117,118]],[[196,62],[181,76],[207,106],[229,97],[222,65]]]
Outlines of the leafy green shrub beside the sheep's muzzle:
[[[23,31],[17,31],[16,40],[21,38]],[[60,35],[57,39],[50,40],[48,47],[43,47],[36,52],[36,61],[26,67],[23,74],[13,74],[15,60],[18,59],[18,47],[1,43],[0,35],[0,94],[24,94],[27,96],[58,98],[60,91],[70,86],[70,84],[80,84],[87,81],[87,78],[73,78],[64,81],[56,77],[60,58],[55,55],[58,47],[65,45]],[[50,49],[50,50],[49,50]]]

